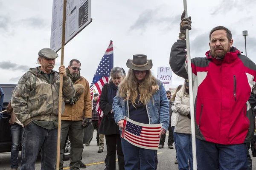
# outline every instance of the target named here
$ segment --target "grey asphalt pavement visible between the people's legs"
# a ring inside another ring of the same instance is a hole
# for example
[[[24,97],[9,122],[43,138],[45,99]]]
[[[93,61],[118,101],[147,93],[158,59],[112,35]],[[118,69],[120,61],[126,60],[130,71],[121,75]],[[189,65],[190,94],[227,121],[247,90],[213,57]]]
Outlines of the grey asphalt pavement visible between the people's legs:
[[[175,149],[169,149],[167,145],[168,137],[166,136],[166,142],[164,148],[158,149],[158,167],[157,170],[178,170],[178,165],[174,163],[176,152]],[[105,143],[105,141],[104,141]],[[82,154],[82,162],[87,165],[85,170],[104,170],[105,169],[105,157],[107,154],[106,146],[102,153],[98,153],[99,147],[96,142],[96,130],[94,130],[93,140],[90,146],[84,146]],[[20,152],[21,155],[21,152]],[[0,170],[10,170],[11,153],[0,153]],[[20,156],[19,156],[20,159]],[[35,170],[41,170],[40,156],[35,164]],[[116,157],[117,159],[117,157]],[[69,170],[70,161],[64,161],[64,170]],[[20,168],[18,168],[20,170]],[[118,163],[116,161],[116,170],[118,170]],[[256,170],[256,158],[253,158],[253,170]]]

